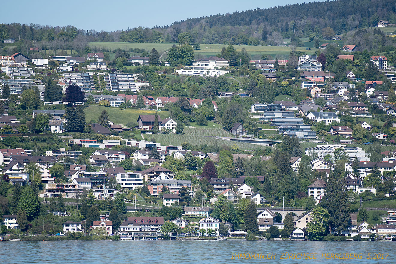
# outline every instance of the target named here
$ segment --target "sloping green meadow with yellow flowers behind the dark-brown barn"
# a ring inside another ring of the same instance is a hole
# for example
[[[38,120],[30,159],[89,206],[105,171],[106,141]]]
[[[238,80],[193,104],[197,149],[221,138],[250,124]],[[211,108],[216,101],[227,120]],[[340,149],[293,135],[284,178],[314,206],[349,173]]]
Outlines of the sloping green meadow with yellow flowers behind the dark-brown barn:
[[[118,124],[127,124],[129,122],[133,122],[137,125],[137,118],[139,115],[154,115],[155,111],[153,110],[137,110],[137,109],[127,109],[122,110],[118,107],[106,107],[106,106],[97,106],[91,105],[84,109],[85,111],[85,120],[89,122],[90,120],[97,120],[100,113],[106,110],[107,114],[110,117],[110,121]],[[159,111],[157,112],[158,116],[162,119],[168,117],[168,112]]]

